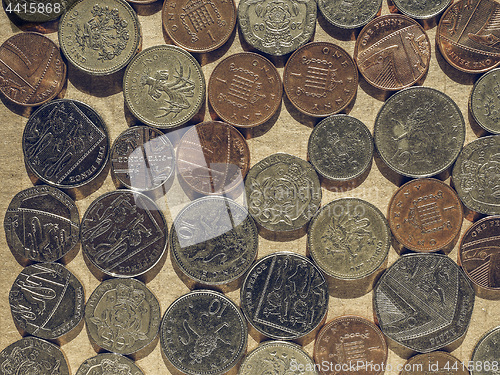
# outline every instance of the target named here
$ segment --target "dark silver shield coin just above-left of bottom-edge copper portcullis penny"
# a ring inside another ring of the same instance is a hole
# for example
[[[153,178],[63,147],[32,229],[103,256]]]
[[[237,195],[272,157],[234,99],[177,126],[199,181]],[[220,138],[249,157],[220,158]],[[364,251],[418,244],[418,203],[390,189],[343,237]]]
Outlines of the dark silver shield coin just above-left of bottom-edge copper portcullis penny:
[[[328,310],[328,286],[306,257],[276,252],[257,261],[241,287],[241,309],[264,336],[295,340],[314,332]]]

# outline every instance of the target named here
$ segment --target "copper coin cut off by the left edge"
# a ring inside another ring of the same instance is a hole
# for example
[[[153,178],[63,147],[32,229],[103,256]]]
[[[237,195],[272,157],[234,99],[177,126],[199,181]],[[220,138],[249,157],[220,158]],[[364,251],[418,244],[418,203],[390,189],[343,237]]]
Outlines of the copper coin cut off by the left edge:
[[[66,64],[49,38],[20,33],[0,47],[0,92],[11,102],[43,104],[59,94],[65,81]]]

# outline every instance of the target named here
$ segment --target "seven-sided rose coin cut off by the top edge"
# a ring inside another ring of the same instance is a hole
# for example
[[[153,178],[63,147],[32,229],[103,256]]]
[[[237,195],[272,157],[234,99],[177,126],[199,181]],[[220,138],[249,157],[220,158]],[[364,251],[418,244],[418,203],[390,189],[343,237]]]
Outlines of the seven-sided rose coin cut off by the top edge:
[[[316,1],[242,0],[238,24],[252,47],[269,55],[286,55],[311,40]]]

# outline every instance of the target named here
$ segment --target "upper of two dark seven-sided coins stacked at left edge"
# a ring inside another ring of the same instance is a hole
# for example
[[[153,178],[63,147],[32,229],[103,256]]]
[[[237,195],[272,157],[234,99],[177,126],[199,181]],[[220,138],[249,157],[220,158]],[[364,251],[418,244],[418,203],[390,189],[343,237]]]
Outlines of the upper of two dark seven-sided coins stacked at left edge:
[[[74,249],[80,238],[75,202],[50,186],[34,186],[15,195],[3,222],[14,257],[30,262],[54,262]]]

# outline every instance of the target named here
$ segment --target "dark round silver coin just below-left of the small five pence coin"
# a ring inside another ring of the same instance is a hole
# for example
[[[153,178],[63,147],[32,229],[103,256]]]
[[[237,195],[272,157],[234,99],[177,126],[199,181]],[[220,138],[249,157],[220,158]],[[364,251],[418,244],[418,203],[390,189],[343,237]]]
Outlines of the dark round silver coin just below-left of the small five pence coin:
[[[168,229],[154,201],[131,190],[94,200],[82,218],[83,255],[112,277],[145,276],[167,251]]]

